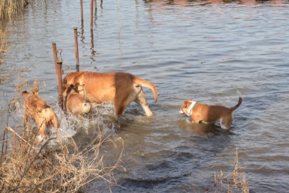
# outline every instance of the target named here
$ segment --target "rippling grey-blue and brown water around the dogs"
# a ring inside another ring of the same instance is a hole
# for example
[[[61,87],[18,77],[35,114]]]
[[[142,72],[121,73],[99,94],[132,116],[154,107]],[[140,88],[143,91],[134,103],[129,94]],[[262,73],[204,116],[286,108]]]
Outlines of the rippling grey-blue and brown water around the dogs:
[[[84,31],[79,2],[68,0],[35,1],[9,24],[10,52],[0,65],[3,127],[20,125],[19,114],[7,123],[19,71],[22,80],[38,80],[40,95],[56,107],[52,42],[63,49],[65,73],[75,71],[73,27],[78,26],[80,70],[130,72],[159,92],[154,103],[145,88],[153,118],[133,104],[120,118],[111,116],[110,108],[86,123],[88,133],[102,123],[124,141],[125,170],[115,171],[119,186],[111,186],[113,192],[205,192],[214,185],[214,173],[233,171],[236,148],[251,192],[288,191],[288,1],[97,3],[93,37],[88,1]],[[237,89],[244,101],[229,132],[192,125],[178,113],[187,98],[233,107]],[[104,144],[107,164],[120,148]],[[101,182],[91,185],[90,192],[96,190],[109,191]]]

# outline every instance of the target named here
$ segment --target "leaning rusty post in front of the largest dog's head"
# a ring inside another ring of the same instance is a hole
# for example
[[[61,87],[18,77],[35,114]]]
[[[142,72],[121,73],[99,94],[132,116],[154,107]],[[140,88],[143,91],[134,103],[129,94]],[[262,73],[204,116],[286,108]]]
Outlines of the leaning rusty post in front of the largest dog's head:
[[[57,57],[56,43],[52,43],[54,64],[58,82],[58,105],[63,109],[63,98],[62,98],[62,61]]]

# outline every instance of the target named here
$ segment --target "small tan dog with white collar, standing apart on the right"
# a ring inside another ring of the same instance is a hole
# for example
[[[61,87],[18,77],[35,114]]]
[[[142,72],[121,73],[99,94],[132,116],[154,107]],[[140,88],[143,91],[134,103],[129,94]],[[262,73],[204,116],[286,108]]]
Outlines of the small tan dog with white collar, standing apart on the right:
[[[229,130],[233,121],[233,111],[242,103],[242,94],[237,91],[239,101],[231,109],[223,106],[210,106],[187,100],[180,106],[180,114],[192,117],[192,123],[214,123],[220,121],[221,128]]]

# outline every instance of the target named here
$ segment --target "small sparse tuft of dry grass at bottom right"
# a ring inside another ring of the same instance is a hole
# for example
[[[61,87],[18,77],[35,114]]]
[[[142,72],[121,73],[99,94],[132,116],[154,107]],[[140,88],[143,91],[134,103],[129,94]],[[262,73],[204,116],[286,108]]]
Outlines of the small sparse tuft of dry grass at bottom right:
[[[224,176],[223,171],[220,171],[219,175],[214,173],[214,192],[244,192],[249,193],[249,185],[245,177],[245,173],[242,172],[242,168],[239,167],[239,159],[236,149],[235,154],[235,168],[232,173]],[[207,192],[210,192],[208,190]]]

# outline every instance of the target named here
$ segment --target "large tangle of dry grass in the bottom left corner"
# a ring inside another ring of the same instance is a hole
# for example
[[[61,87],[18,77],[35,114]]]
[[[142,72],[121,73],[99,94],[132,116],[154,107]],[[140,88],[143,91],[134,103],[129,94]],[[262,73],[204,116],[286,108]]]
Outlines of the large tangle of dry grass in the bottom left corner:
[[[20,82],[16,90],[20,92],[27,85],[27,81]],[[33,88],[36,86],[38,84],[34,82]],[[19,102],[17,97],[15,101]],[[31,120],[23,122],[26,125],[19,132],[22,134],[17,134],[17,128],[16,131],[9,127],[4,130],[0,192],[86,192],[94,180],[102,180],[108,187],[116,185],[113,171],[123,154],[123,141],[116,145],[104,130],[99,129],[85,146],[77,146],[72,137],[50,138],[36,146],[37,130],[33,130]],[[7,137],[8,130],[14,134],[12,139]],[[104,143],[113,143],[119,152],[113,164],[108,166],[100,152]]]

